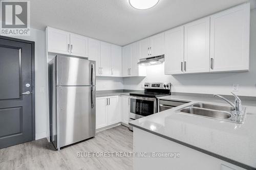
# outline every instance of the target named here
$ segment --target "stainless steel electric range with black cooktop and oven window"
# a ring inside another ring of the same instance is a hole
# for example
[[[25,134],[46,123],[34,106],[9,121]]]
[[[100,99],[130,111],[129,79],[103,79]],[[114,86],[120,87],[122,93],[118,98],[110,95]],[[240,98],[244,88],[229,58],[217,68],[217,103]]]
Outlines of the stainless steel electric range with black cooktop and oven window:
[[[145,83],[144,92],[130,93],[131,102],[129,120],[132,121],[157,113],[157,98],[164,95],[170,95],[170,93],[170,83]],[[130,130],[132,130],[132,127],[130,127]]]

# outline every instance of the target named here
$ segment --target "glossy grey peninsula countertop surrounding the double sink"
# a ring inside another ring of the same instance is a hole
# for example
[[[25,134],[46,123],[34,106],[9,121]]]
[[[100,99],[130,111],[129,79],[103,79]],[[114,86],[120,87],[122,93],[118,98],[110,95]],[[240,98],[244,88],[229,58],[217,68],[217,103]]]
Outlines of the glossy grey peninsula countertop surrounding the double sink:
[[[213,96],[169,95],[159,99],[190,103],[134,120],[129,124],[243,168],[256,169],[255,101],[242,100],[242,106],[246,107],[245,122],[236,124],[175,112],[197,102],[226,104]]]

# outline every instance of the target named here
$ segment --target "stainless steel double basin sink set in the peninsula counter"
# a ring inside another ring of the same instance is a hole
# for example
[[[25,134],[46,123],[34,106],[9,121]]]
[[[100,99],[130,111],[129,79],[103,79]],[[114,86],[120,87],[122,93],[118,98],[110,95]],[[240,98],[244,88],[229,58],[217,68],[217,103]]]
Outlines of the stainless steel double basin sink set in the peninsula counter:
[[[245,108],[243,108],[242,114],[238,115],[234,108],[231,106],[208,103],[195,103],[176,110],[176,112],[214,118],[226,122],[243,123]]]

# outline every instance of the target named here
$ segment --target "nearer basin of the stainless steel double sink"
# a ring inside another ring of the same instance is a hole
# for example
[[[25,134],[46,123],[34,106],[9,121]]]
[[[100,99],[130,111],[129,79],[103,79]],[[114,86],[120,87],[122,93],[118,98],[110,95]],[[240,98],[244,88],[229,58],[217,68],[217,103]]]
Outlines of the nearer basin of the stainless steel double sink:
[[[218,111],[218,110],[209,110],[209,109],[201,109],[201,108],[195,108],[195,107],[187,107],[180,112],[189,113],[189,114],[195,114],[199,116],[206,116],[206,117],[213,117],[218,119],[225,119],[231,117],[231,114],[224,111]]]

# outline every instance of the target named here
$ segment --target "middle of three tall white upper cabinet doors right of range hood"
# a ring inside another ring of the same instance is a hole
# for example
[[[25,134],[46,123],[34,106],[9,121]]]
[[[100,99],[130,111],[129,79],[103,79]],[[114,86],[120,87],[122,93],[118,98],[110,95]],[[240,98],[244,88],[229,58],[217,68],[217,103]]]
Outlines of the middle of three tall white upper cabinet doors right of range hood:
[[[184,26],[184,72],[209,72],[210,17]],[[180,65],[180,64],[179,64]]]

